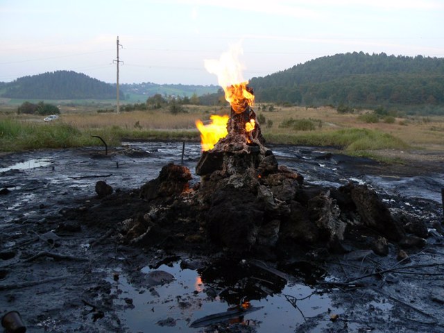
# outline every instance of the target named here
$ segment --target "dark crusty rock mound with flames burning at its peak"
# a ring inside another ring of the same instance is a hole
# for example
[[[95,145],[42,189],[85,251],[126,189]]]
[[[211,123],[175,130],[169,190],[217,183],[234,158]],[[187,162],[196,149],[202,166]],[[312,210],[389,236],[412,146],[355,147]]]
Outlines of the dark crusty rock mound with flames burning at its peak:
[[[232,112],[228,135],[200,157],[194,186],[189,169],[175,164],[143,185],[146,214],[121,223],[121,241],[263,259],[301,249],[344,253],[351,246],[387,255],[389,242],[398,249],[425,244],[424,223],[391,214],[372,189],[351,182],[339,188],[305,184],[300,173],[278,165],[257,121],[245,130],[251,119],[250,108]],[[414,225],[413,234],[404,225]]]

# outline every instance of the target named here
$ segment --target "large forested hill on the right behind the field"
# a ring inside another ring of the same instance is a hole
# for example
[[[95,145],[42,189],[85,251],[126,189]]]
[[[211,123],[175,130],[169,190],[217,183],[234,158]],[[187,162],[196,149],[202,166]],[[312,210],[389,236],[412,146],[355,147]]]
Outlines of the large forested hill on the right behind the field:
[[[336,54],[252,78],[249,85],[259,102],[443,105],[444,58]]]

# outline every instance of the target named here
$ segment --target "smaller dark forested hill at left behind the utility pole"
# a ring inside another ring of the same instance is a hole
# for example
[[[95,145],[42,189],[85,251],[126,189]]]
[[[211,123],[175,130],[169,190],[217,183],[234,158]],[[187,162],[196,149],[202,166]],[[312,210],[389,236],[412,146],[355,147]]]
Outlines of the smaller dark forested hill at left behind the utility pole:
[[[75,71],[53,71],[0,85],[0,96],[15,99],[115,99],[109,83]],[[122,92],[119,98],[123,99]]]

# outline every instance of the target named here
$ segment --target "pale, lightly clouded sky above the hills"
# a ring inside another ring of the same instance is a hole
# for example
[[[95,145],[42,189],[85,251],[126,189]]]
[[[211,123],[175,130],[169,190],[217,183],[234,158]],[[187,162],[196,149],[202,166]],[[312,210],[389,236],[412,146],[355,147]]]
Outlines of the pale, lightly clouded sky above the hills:
[[[217,85],[205,60],[241,45],[246,80],[363,51],[444,57],[444,0],[0,0],[0,81],[72,70],[115,83]]]

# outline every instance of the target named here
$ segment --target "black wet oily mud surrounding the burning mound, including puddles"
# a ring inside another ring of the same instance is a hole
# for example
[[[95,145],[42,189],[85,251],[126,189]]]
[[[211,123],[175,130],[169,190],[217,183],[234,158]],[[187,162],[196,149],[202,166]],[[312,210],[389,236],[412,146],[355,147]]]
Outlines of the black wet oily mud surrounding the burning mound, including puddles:
[[[139,188],[181,163],[182,143],[3,155],[0,314],[19,311],[28,332],[444,332],[442,162],[268,148],[307,185],[372,187],[391,212],[427,225],[425,244],[403,258],[389,244],[379,256],[355,234],[347,253],[311,248],[273,261],[180,246],[180,237],[123,245],[119,223],[146,213]],[[191,185],[199,157],[199,144],[185,146]],[[99,180],[111,195],[99,198]]]

